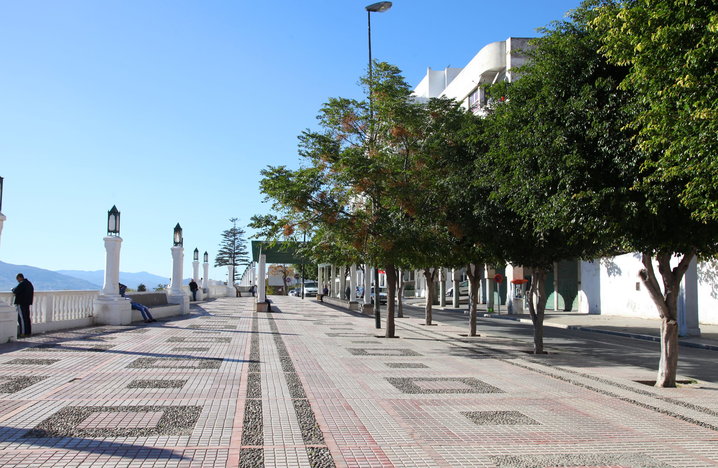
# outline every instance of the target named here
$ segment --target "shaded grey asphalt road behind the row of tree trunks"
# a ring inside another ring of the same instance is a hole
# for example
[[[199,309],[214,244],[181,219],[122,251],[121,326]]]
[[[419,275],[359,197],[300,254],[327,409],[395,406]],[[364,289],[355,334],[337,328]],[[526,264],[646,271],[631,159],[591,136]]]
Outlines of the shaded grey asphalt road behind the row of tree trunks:
[[[382,312],[384,310],[385,306],[382,306]],[[404,315],[423,318],[424,307],[404,304]],[[441,323],[465,327],[467,330],[469,328],[469,316],[461,312],[434,309],[432,318]],[[476,331],[478,334],[512,338],[526,343],[526,349],[533,349],[531,324],[478,317]],[[655,371],[658,371],[661,352],[661,344],[658,342],[554,327],[544,327],[544,347],[549,350],[598,356],[608,362],[635,365]],[[696,380],[718,383],[718,352],[679,347],[678,373]]]

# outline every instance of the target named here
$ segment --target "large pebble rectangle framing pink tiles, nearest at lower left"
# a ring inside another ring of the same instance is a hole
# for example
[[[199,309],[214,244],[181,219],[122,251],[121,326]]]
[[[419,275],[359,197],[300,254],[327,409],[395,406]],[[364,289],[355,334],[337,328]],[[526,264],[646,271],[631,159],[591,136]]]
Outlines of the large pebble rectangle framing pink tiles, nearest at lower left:
[[[92,413],[162,413],[149,428],[81,428]],[[67,406],[27,431],[25,437],[146,437],[189,436],[202,406]]]

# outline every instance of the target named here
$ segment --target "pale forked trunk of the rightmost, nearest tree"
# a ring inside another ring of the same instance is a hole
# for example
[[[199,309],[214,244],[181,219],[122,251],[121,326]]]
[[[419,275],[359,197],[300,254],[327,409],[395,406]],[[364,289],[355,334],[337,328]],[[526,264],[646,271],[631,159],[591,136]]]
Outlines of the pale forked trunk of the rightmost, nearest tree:
[[[658,315],[661,317],[661,362],[658,365],[656,387],[676,386],[676,373],[678,371],[678,298],[681,281],[688,270],[688,266],[696,255],[695,249],[685,253],[676,268],[671,269],[672,251],[659,251],[656,253],[658,272],[663,279],[663,292],[653,271],[651,256],[643,254],[641,261],[643,269],[638,272],[640,281],[656,304]]]

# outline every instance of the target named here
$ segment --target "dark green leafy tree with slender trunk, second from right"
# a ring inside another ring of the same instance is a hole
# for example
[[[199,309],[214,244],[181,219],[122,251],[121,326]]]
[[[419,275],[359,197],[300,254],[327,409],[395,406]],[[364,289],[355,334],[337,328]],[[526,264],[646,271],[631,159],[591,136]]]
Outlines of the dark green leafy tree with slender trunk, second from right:
[[[597,52],[589,8],[539,29],[512,83],[489,89],[488,157],[478,185],[490,189],[498,237],[489,251],[531,268],[534,352],[543,352],[546,273],[554,262],[600,256],[617,242],[638,154],[630,145],[624,67]]]

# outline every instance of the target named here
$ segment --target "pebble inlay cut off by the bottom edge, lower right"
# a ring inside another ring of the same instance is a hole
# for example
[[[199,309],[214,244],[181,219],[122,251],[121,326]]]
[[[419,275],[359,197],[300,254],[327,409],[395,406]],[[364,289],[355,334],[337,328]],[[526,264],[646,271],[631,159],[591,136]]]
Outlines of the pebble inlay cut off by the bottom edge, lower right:
[[[631,468],[670,468],[671,465],[641,453],[501,455],[489,457],[497,468],[587,467],[620,465]]]

